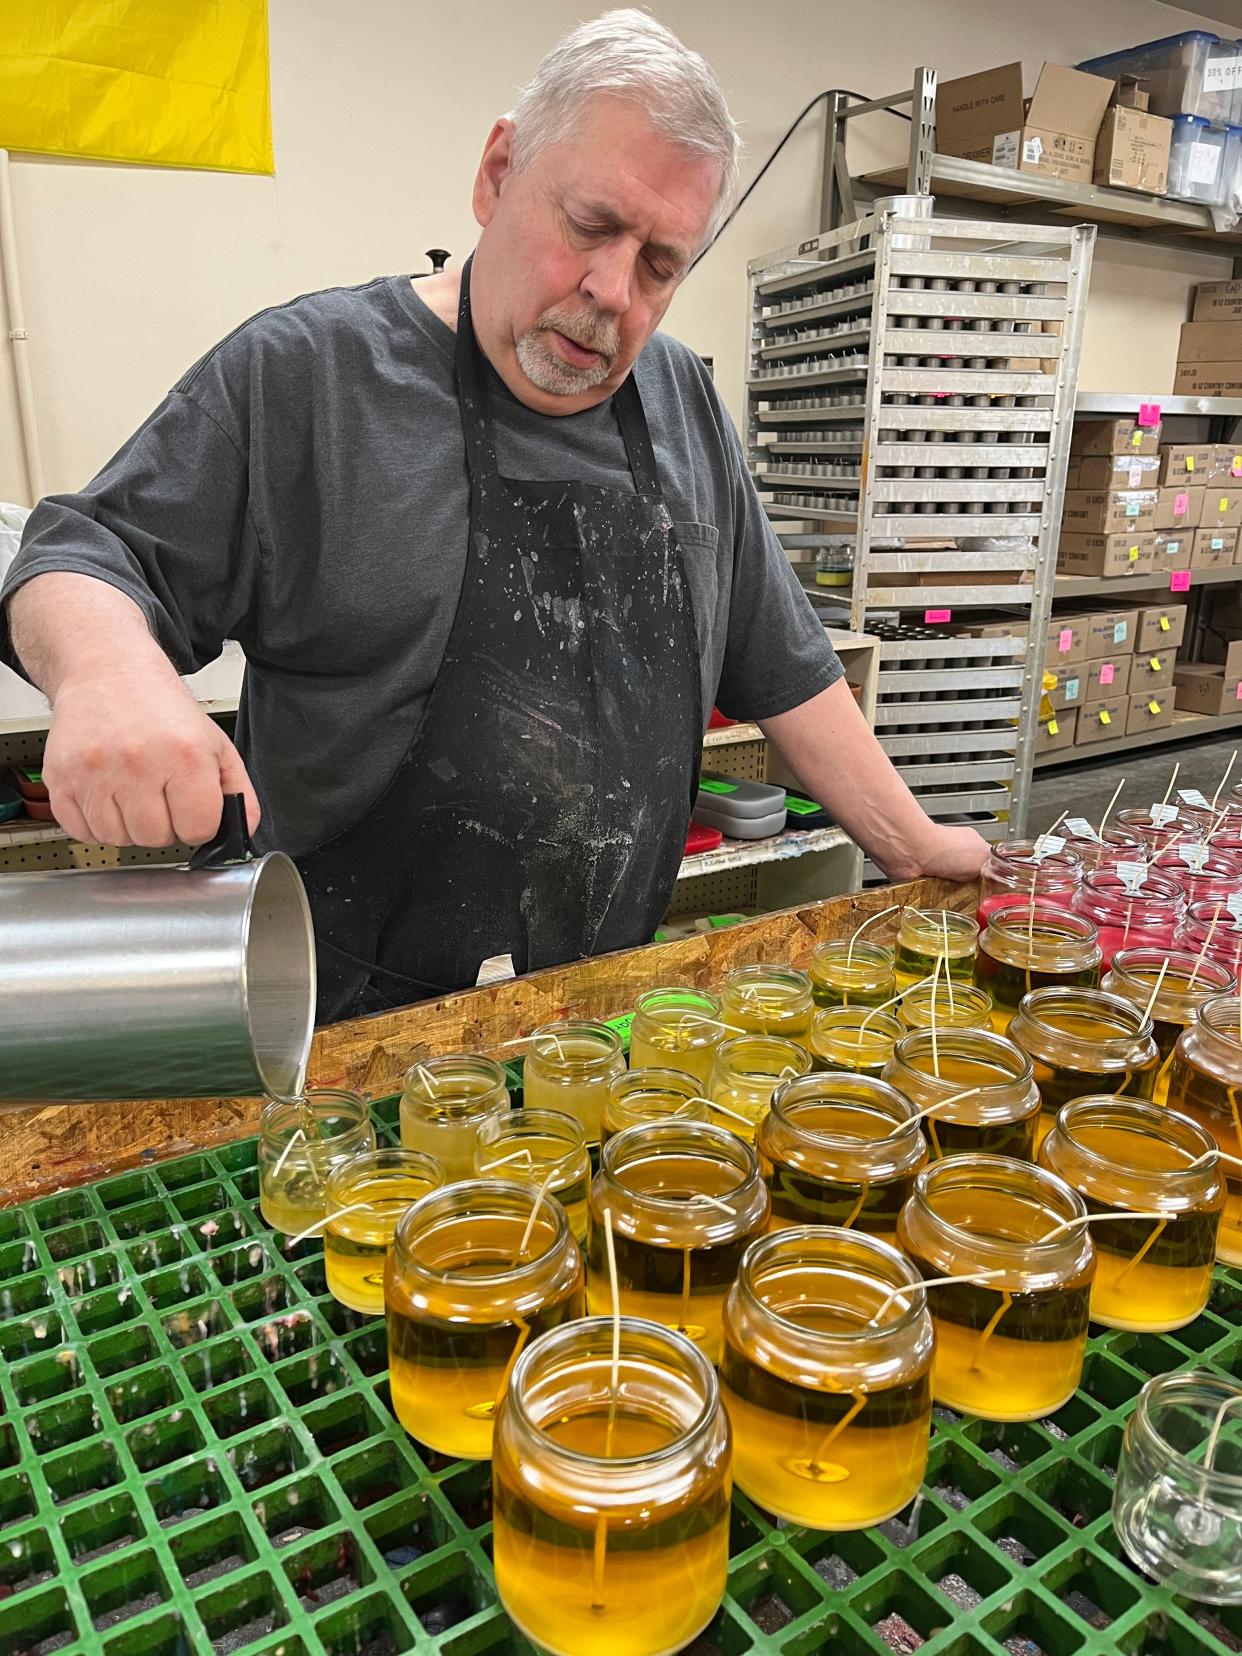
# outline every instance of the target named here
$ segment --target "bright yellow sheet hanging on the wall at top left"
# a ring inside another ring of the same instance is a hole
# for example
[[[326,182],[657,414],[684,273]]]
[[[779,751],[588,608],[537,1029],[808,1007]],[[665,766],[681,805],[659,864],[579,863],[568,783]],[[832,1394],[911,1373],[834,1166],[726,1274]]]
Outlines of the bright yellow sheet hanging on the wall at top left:
[[[0,147],[273,172],[267,0],[0,0]]]

